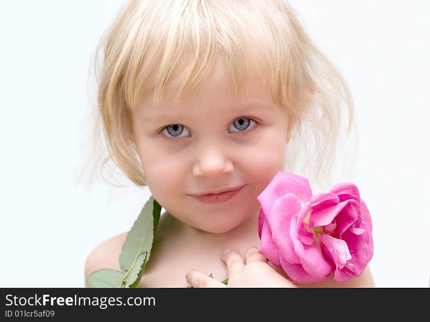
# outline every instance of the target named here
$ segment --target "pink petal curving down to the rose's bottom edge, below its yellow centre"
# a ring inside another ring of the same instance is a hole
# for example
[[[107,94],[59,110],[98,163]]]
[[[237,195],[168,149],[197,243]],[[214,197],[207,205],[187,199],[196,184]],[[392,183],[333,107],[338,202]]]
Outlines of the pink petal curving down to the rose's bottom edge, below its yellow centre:
[[[297,256],[301,259],[301,265],[303,266],[303,269],[310,275],[317,278],[330,275],[334,271],[334,267],[331,261],[324,256],[321,245],[316,242],[312,243],[311,245],[306,245],[303,244],[298,238],[297,218],[298,216],[295,215],[291,219],[290,234],[291,240],[294,244],[294,250],[296,251]]]

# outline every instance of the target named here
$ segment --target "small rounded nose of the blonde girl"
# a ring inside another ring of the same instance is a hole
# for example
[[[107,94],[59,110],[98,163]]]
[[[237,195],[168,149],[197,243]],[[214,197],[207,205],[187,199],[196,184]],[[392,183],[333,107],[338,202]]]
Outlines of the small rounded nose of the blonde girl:
[[[193,165],[193,175],[196,177],[215,178],[232,172],[233,163],[222,149],[215,146],[200,151]]]

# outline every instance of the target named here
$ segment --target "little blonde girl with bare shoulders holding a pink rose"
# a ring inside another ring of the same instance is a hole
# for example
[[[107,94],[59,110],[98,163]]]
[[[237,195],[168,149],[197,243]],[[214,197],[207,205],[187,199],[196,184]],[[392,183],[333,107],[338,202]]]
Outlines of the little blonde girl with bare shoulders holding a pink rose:
[[[166,210],[140,287],[374,286],[368,267],[294,284],[258,253],[258,194],[299,157],[326,175],[341,116],[348,130],[353,117],[343,78],[285,0],[129,0],[98,50],[108,156]],[[94,248],[85,279],[121,270],[126,236]]]

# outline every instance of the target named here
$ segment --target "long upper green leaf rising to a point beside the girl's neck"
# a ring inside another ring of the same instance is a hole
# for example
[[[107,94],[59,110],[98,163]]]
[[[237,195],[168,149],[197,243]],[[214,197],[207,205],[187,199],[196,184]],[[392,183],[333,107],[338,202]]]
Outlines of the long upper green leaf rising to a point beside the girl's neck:
[[[134,270],[133,265],[142,253],[147,252],[144,263],[150,259],[152,242],[158,226],[158,220],[160,219],[160,213],[161,206],[151,196],[142,208],[140,215],[134,221],[133,227],[131,227],[123,244],[119,257],[119,262],[123,270]]]

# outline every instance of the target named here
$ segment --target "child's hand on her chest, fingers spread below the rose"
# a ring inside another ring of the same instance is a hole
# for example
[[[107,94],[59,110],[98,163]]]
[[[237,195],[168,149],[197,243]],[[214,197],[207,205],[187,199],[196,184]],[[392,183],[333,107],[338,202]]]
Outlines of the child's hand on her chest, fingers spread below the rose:
[[[256,246],[245,252],[245,261],[234,250],[224,251],[221,259],[227,265],[227,285],[194,269],[185,279],[193,287],[297,287],[272,268]]]

